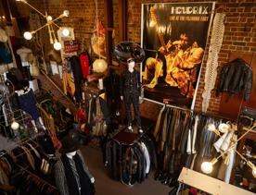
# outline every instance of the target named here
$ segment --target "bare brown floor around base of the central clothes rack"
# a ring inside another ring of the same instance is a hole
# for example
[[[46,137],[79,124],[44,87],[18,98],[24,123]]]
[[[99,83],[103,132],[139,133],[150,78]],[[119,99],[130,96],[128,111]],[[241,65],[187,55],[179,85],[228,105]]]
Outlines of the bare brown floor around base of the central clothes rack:
[[[85,146],[81,151],[86,165],[96,178],[96,195],[168,195],[171,190],[159,181],[155,181],[152,176],[141,184],[135,184],[132,188],[127,187],[109,177],[103,164],[102,152],[98,148]]]

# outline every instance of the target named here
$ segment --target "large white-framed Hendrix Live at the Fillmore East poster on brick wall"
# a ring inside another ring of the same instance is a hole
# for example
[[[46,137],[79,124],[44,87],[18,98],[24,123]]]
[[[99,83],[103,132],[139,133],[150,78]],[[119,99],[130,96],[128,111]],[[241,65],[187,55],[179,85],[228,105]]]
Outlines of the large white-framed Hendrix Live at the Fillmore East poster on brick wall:
[[[214,3],[142,5],[144,97],[193,108]]]

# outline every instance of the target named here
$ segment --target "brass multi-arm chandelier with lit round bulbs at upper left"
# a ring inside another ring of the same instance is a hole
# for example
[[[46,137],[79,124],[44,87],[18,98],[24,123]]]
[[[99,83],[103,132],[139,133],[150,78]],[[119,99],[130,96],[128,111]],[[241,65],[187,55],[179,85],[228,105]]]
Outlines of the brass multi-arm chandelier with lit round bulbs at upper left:
[[[42,27],[38,28],[37,30],[25,31],[24,34],[23,34],[23,37],[26,40],[31,40],[33,34],[35,34],[37,31],[42,30],[45,27],[47,27],[48,28],[49,37],[50,37],[50,43],[53,44],[55,50],[60,50],[61,49],[61,43],[58,42],[56,33],[55,33],[54,29],[53,29],[53,25],[55,25],[59,29],[60,27],[55,23],[55,21],[57,21],[60,18],[69,17],[70,16],[70,11],[69,10],[64,10],[63,13],[58,16],[58,18],[53,19],[47,13],[45,13],[45,15],[44,15],[42,12],[37,10],[34,6],[30,5],[26,0],[16,0],[16,1],[22,2],[22,3],[30,6],[34,11],[36,11],[38,14],[40,14],[42,17],[44,17],[46,19],[45,25],[43,25]],[[70,30],[68,30],[66,28],[63,28],[61,33],[63,34],[63,36],[67,37],[67,36],[70,35]]]

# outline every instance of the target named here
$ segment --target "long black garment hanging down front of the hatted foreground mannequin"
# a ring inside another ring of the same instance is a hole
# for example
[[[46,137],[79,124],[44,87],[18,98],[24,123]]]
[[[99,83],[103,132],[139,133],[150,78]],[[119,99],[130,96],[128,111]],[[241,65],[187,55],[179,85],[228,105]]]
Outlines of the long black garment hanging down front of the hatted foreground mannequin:
[[[87,174],[83,170],[82,159],[76,153],[73,156],[73,160],[75,162],[76,170],[79,175],[79,181],[80,181],[80,186],[81,186],[80,193],[79,193],[78,185],[76,182],[76,178],[74,177],[74,174],[73,174],[71,166],[70,166],[69,158],[65,154],[61,156],[61,161],[62,161],[62,164],[64,165],[65,177],[67,179],[67,185],[68,185],[70,195],[73,195],[73,194],[93,195],[93,194],[95,194],[94,185],[91,183],[90,178],[87,176]]]

